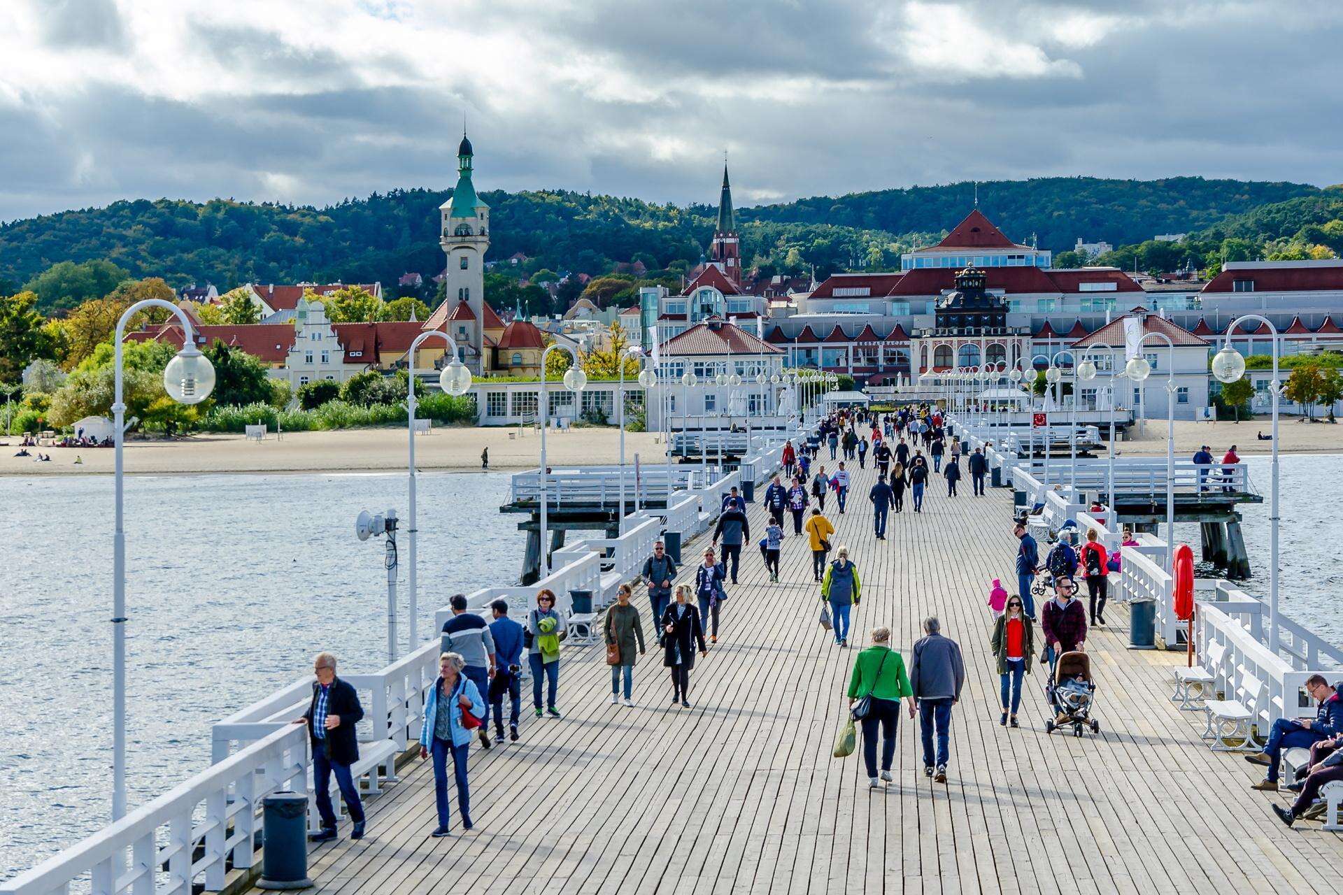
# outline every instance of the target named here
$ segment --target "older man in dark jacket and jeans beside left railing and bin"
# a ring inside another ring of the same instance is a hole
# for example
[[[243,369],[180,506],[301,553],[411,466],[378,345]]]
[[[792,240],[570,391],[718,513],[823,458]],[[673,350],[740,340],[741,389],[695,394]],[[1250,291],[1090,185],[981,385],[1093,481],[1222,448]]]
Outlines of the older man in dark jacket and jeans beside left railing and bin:
[[[313,698],[308,711],[295,725],[308,725],[308,738],[313,746],[313,788],[317,797],[317,813],[322,817],[322,829],[313,833],[314,843],[336,839],[336,810],[332,808],[330,777],[336,773],[336,785],[349,819],[355,821],[351,839],[364,837],[364,804],[359,800],[359,788],[349,766],[359,761],[359,741],[355,738],[355,725],[364,717],[359,704],[359,692],[336,676],[336,656],[320,652],[313,659]]]

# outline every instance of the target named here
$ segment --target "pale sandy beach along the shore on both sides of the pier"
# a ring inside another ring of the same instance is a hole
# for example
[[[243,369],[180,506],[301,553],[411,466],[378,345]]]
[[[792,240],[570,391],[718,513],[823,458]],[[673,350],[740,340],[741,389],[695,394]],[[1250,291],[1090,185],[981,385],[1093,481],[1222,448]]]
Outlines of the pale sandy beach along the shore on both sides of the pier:
[[[1234,444],[1241,456],[1268,454],[1270,441],[1257,440],[1256,432],[1268,435],[1268,420],[1245,423],[1175,423],[1175,454],[1187,458],[1201,444],[1209,444],[1221,459]],[[1299,423],[1285,417],[1280,423],[1284,454],[1343,452],[1343,425]],[[510,437],[512,436],[512,437]],[[659,436],[654,432],[627,432],[626,459],[638,454],[643,462],[665,463]],[[0,448],[0,475],[89,475],[113,471],[110,448],[42,448],[51,454],[51,463],[35,463],[13,456],[17,437]],[[490,468],[525,470],[539,462],[540,433],[516,428],[435,428],[415,440],[415,455],[422,470],[474,472],[481,468],[481,451],[489,448]],[[547,436],[551,466],[616,463],[619,433],[614,428],[572,429]],[[1138,427],[1132,437],[1120,441],[1123,456],[1164,456],[1166,420],[1148,420],[1147,432]],[[75,464],[75,456],[83,459]],[[247,441],[240,435],[196,435],[176,440],[141,440],[126,443],[126,471],[138,474],[197,472],[387,472],[406,468],[406,431],[345,429],[340,432],[291,432],[282,439]]]

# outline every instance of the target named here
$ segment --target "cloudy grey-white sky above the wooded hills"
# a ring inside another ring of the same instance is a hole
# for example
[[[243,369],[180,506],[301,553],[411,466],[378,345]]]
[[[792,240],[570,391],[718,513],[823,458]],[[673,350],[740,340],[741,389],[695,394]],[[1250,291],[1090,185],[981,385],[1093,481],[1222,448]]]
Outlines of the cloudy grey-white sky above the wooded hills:
[[[1343,181],[1339,0],[3,0],[0,220],[450,187],[739,205]]]

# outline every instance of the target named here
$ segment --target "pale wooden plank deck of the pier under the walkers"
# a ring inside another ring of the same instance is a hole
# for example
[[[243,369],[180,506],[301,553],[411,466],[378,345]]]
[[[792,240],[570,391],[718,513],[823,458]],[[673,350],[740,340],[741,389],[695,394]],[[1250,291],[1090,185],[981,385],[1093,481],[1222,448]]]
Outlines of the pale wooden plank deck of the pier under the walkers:
[[[925,511],[911,513],[907,496],[889,539],[876,541],[874,472],[854,480],[846,515],[827,501],[835,543],[849,545],[864,580],[854,648],[837,648],[817,624],[804,537],[784,541],[779,584],[748,547],[720,641],[693,672],[693,708],[670,704],[655,648],[635,668],[634,708],[610,704],[600,645],[568,648],[564,718],[533,719],[524,691],[521,739],[473,746],[474,831],[461,829],[454,794],[454,835],[430,837],[432,770],[416,762],[368,804],[364,840],[314,848],[317,891],[1343,890],[1343,841],[1317,824],[1283,827],[1269,812],[1279,797],[1248,788],[1256,769],[1207,750],[1201,713],[1167,699],[1183,656],[1125,649],[1123,607],[1088,643],[1099,737],[1045,734],[1038,671],[1026,679],[1021,729],[999,727],[984,600],[991,578],[1015,581],[1011,492],[974,498],[966,480],[947,498],[933,479]],[[759,505],[751,519],[763,533]],[[700,546],[684,551],[692,570]],[[635,601],[646,612],[642,592]],[[950,781],[923,776],[916,723],[901,718],[896,780],[869,790],[860,754],[830,754],[851,660],[880,624],[908,660],[927,615],[960,641],[967,664]]]

